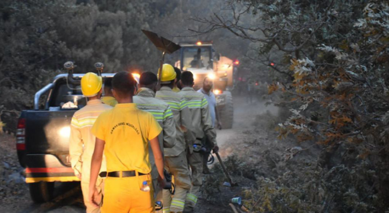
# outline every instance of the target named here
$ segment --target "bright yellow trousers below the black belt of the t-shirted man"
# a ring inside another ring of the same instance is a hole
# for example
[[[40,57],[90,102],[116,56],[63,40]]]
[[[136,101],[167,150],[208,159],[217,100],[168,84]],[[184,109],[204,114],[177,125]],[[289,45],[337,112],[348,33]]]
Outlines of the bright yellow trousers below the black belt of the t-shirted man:
[[[149,192],[140,190],[143,181],[149,183]],[[149,174],[105,179],[102,213],[151,213],[154,212],[154,207]]]

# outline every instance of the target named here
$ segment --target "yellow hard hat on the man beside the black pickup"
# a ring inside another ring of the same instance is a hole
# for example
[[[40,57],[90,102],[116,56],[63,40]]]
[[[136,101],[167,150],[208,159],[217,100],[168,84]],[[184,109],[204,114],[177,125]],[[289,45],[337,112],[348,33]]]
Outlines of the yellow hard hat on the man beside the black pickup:
[[[93,72],[88,72],[81,78],[81,91],[86,97],[93,97],[100,92],[103,84],[102,77]]]

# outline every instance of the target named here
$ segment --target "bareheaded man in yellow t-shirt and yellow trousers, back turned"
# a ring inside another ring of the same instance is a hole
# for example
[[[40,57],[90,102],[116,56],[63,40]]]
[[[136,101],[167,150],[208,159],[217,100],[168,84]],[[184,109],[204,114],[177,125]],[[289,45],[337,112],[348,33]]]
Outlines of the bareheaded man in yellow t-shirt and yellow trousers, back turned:
[[[112,92],[118,104],[100,114],[91,130],[96,136],[96,145],[91,161],[89,199],[94,201],[96,197],[94,185],[104,152],[107,178],[103,213],[154,211],[149,143],[158,169],[158,180],[165,185],[163,156],[158,141],[162,129],[151,113],[137,109],[133,103],[136,84],[128,72],[118,72],[113,77]]]

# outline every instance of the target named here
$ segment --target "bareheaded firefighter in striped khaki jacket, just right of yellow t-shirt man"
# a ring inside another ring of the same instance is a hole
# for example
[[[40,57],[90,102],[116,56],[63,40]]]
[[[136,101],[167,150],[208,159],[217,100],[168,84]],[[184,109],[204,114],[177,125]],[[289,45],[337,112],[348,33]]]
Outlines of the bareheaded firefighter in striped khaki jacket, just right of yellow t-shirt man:
[[[133,101],[137,104],[138,109],[142,109],[151,113],[162,127],[163,132],[159,134],[159,147],[161,150],[172,148],[175,145],[176,129],[172,110],[169,105],[162,100],[155,98],[156,86],[158,79],[156,74],[152,72],[144,72],[140,75],[139,89],[137,95],[134,96]],[[158,171],[154,163],[154,156],[151,148],[149,148],[151,176],[153,180],[153,187],[155,189],[156,201],[162,201],[162,188],[158,185]]]

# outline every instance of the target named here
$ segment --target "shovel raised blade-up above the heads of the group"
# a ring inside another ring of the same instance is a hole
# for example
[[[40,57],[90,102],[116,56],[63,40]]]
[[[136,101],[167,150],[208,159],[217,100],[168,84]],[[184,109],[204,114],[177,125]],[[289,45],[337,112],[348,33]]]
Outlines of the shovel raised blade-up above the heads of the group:
[[[157,49],[162,51],[162,58],[159,61],[159,71],[158,71],[158,85],[161,84],[161,77],[162,77],[162,66],[163,66],[163,60],[165,59],[165,54],[172,54],[175,51],[179,50],[181,46],[178,44],[172,42],[171,40],[165,39],[162,36],[157,35],[157,33],[153,33],[148,30],[142,30],[142,32],[151,40],[151,42],[156,46]]]

